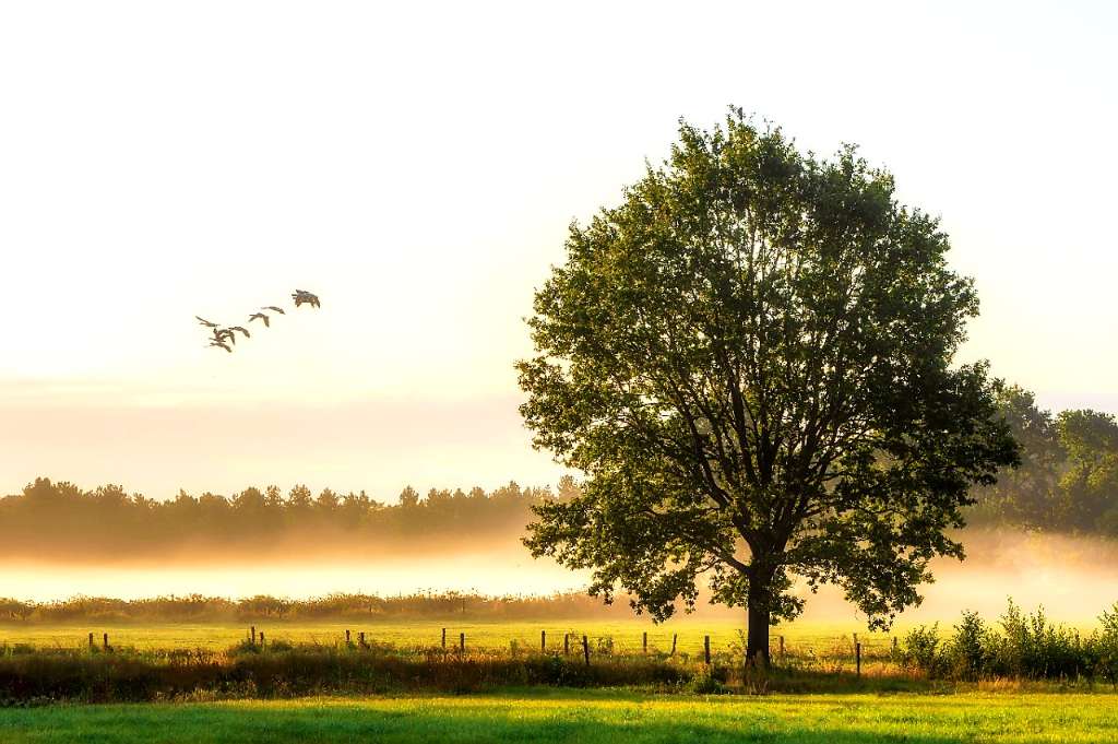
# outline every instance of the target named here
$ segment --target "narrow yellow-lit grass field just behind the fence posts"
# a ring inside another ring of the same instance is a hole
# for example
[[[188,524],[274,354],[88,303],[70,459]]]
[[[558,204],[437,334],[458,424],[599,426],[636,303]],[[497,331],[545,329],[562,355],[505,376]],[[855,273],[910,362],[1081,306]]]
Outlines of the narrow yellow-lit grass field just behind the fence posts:
[[[726,649],[739,641],[741,625],[728,620],[683,619],[664,625],[648,621],[600,621],[600,620],[553,620],[548,622],[459,622],[453,620],[414,622],[366,623],[286,623],[257,624],[272,640],[293,642],[337,643],[344,639],[345,630],[353,638],[363,631],[369,641],[390,643],[397,647],[437,646],[442,642],[442,629],[446,628],[447,643],[457,644],[458,633],[465,633],[466,646],[471,649],[509,650],[515,642],[521,649],[540,648],[540,631],[547,632],[548,647],[562,647],[563,633],[576,638],[582,634],[594,643],[596,639],[612,639],[616,651],[637,651],[642,648],[643,633],[648,633],[650,650],[667,651],[672,647],[672,635],[678,634],[678,650],[682,653],[702,652],[703,637],[710,635],[712,649]],[[859,632],[861,631],[861,632]],[[108,633],[114,646],[136,649],[225,649],[243,641],[248,633],[247,624],[122,624],[88,623],[80,625],[48,624],[0,624],[0,644],[28,643],[39,648],[72,648],[85,646],[88,633],[94,633],[97,642],[102,633]],[[774,650],[778,637],[784,635],[789,650],[813,650],[816,652],[852,652],[851,633],[859,632],[863,650],[885,650],[890,638],[883,633],[868,633],[856,623],[849,625],[793,624],[773,631]]]

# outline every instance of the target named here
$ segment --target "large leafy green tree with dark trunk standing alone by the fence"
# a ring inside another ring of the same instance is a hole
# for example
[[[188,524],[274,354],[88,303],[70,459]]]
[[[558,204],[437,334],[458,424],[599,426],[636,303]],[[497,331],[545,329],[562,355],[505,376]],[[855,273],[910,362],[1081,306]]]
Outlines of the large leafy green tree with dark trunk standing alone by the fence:
[[[755,660],[803,606],[795,576],[888,627],[934,556],[963,556],[945,533],[1016,445],[986,365],[953,364],[972,281],[891,176],[740,112],[681,123],[567,251],[528,321],[521,412],[585,480],[537,508],[533,554],[657,620],[707,577],[748,609]]]

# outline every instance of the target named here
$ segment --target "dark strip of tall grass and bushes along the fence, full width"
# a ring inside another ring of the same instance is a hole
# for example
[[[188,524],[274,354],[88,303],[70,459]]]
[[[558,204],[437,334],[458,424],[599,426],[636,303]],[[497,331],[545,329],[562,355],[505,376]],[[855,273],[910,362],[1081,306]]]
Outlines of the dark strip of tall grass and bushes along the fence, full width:
[[[391,690],[472,691],[496,687],[636,686],[697,693],[839,693],[852,689],[927,689],[940,684],[1018,684],[1027,680],[1096,682],[1118,689],[1118,605],[1103,612],[1088,635],[1052,623],[1043,610],[1024,613],[1010,603],[995,623],[966,612],[949,633],[939,625],[913,629],[894,648],[863,647],[853,639],[831,647],[788,647],[769,667],[747,663],[746,643],[672,653],[650,646],[587,635],[589,663],[572,639],[570,653],[523,646],[496,649],[366,642],[292,643],[271,633],[224,650],[136,649],[113,646],[0,644],[0,704],[35,700],[127,701],[226,697],[290,697]],[[100,640],[100,639],[97,639]],[[542,639],[541,639],[542,640]]]

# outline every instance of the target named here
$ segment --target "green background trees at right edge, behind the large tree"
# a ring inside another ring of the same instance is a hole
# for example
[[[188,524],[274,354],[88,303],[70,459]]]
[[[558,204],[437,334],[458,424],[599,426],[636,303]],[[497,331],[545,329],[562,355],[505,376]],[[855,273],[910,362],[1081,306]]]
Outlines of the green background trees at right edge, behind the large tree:
[[[1022,464],[975,493],[973,525],[1118,537],[1118,423],[1098,411],[1036,406],[1008,387],[1002,412],[1022,445]]]

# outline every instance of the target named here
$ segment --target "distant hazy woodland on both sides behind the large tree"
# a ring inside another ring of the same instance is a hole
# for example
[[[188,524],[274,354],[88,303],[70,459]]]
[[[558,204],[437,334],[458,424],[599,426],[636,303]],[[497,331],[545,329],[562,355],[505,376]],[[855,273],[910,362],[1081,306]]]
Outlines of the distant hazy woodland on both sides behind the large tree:
[[[1001,398],[1023,462],[1003,471],[996,486],[974,493],[969,524],[1118,537],[1115,417],[1089,409],[1052,414],[1015,386],[1006,387]],[[157,500],[130,495],[121,486],[87,491],[40,478],[21,493],[0,498],[0,557],[266,557],[277,552],[375,552],[381,546],[449,550],[519,535],[533,519],[533,505],[577,492],[568,475],[556,491],[510,482],[492,491],[430,489],[421,496],[409,486],[396,503],[364,491],[328,488],[315,496],[305,486],[286,493],[276,486],[253,487],[228,497],[180,491]]]

